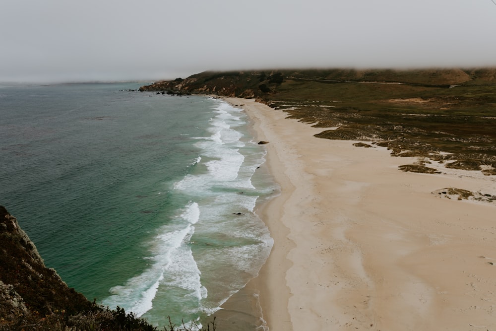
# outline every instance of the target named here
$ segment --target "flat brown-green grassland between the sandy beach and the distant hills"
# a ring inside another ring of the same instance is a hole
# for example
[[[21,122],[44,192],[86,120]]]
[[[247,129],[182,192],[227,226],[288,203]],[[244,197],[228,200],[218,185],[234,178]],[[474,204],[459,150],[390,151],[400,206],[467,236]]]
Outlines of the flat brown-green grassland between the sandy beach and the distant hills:
[[[318,128],[341,126],[322,138],[382,140],[392,149],[443,151],[495,166],[495,92],[496,86],[287,80],[268,102]]]

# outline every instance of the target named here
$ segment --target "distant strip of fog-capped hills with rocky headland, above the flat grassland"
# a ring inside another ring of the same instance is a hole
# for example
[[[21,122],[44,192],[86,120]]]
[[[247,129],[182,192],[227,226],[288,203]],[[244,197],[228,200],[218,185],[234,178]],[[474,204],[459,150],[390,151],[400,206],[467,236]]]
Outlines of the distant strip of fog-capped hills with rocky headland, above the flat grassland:
[[[185,79],[177,78],[142,86],[141,91],[169,91],[176,94],[217,94],[231,97],[270,99],[279,85],[290,81],[320,83],[384,82],[409,86],[449,87],[450,85],[496,84],[496,68],[478,69],[299,69],[259,71],[205,71]],[[284,85],[284,84],[283,84]],[[436,86],[438,85],[438,86]],[[444,85],[444,86],[443,86]]]

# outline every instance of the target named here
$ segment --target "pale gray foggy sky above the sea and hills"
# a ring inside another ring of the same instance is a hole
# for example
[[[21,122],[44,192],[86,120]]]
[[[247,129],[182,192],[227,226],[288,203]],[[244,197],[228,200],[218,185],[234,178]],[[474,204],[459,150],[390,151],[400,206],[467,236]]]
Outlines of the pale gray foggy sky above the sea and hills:
[[[491,0],[2,0],[0,81],[496,66]]]

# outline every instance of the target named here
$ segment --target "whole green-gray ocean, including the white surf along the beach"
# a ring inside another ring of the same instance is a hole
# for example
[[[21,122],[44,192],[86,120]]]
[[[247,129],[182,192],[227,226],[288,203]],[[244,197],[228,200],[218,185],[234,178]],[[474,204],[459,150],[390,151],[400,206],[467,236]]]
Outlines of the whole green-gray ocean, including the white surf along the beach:
[[[204,323],[268,257],[278,188],[242,109],[143,84],[1,83],[0,204],[89,300]]]

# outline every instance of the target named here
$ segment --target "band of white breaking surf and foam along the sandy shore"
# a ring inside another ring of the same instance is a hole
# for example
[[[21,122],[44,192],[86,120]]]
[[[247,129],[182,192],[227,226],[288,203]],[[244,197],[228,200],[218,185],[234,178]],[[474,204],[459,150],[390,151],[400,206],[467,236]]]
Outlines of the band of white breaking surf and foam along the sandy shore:
[[[268,256],[273,241],[253,213],[260,192],[251,182],[265,152],[240,130],[246,126],[241,109],[214,102],[209,135],[188,137],[198,157],[173,185],[174,194],[190,202],[159,228],[150,266],[113,287],[105,304],[150,320],[157,320],[159,307],[167,314],[179,309],[194,320],[220,309]]]

